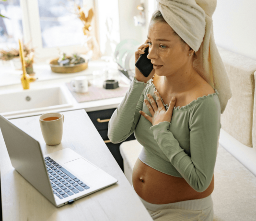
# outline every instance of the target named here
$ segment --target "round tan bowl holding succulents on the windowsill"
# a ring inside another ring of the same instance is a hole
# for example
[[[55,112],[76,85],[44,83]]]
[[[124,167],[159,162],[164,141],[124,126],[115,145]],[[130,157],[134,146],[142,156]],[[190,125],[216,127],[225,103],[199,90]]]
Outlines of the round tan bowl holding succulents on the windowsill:
[[[62,74],[75,73],[75,72],[85,70],[88,67],[88,61],[85,60],[85,62],[76,64],[76,65],[72,64],[72,65],[59,66],[58,58],[55,58],[50,61],[50,66],[51,66],[52,72],[55,72],[55,73],[62,73]]]

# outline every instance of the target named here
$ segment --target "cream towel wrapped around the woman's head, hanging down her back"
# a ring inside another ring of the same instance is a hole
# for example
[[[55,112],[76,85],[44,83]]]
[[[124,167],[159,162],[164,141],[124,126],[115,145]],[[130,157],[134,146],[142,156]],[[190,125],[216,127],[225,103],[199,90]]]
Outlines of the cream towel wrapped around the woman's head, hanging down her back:
[[[217,0],[157,0],[158,10],[171,28],[196,53],[193,66],[219,92],[221,113],[232,97],[229,77],[213,37],[212,14]]]

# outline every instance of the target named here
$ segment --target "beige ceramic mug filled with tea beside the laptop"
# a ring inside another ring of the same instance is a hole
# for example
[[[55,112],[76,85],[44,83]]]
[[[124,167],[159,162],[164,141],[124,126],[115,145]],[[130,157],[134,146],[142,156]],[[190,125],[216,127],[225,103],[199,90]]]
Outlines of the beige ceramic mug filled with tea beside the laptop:
[[[55,146],[61,143],[64,115],[60,113],[45,113],[39,117],[41,131],[47,145]]]

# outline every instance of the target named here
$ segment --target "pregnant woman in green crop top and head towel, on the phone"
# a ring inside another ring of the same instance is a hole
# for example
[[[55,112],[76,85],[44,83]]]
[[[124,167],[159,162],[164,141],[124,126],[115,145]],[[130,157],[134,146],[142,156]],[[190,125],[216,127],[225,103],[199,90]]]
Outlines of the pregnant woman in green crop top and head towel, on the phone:
[[[211,16],[216,1],[198,2]],[[158,9],[147,40],[135,52],[137,61],[149,47],[153,70],[144,77],[135,68],[109,121],[108,137],[116,144],[134,132],[143,145],[132,182],[153,220],[213,221],[213,173],[221,113],[232,96],[229,79],[209,15],[196,0],[159,0]],[[223,99],[213,88],[218,76],[227,88]]]

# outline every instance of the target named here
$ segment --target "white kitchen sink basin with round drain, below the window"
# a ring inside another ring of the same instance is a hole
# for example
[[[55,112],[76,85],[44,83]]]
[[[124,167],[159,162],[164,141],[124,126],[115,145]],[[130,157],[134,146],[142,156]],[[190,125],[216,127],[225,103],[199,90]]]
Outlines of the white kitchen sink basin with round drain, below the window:
[[[63,86],[0,93],[0,114],[10,116],[35,111],[50,112],[54,109],[72,107],[67,89]]]

